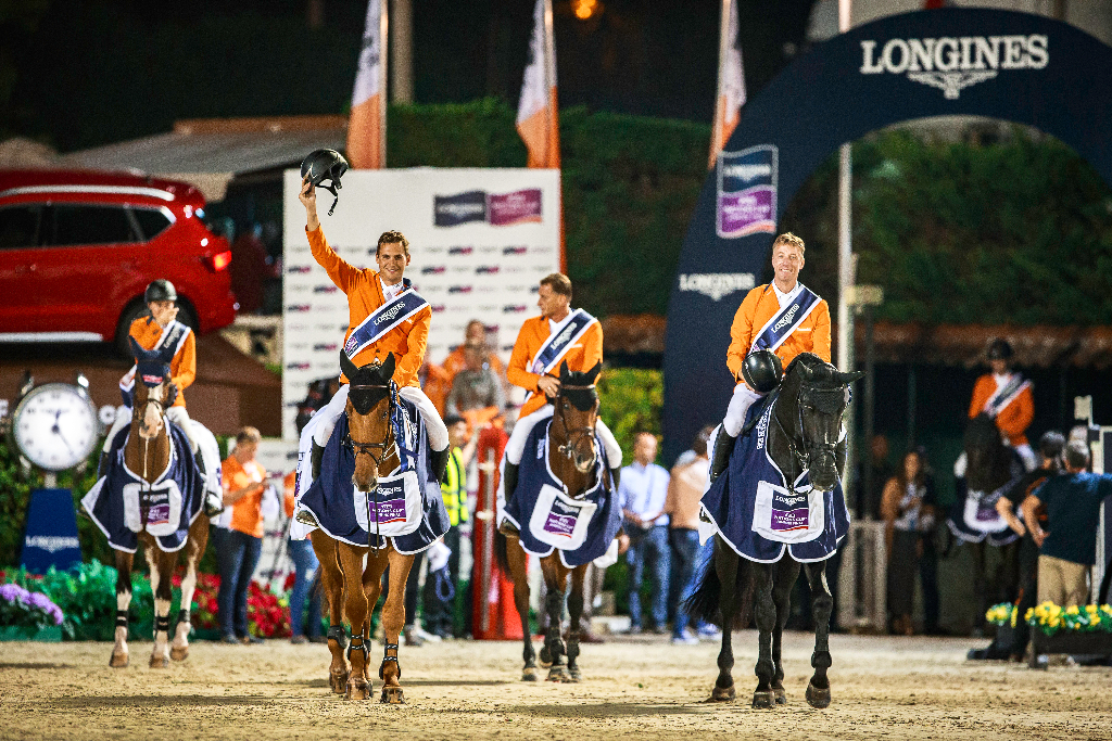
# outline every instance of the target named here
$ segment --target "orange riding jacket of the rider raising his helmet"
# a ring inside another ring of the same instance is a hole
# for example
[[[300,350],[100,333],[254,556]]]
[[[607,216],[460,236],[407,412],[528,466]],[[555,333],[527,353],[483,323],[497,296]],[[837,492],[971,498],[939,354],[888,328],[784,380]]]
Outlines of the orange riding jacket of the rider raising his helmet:
[[[383,296],[383,282],[378,278],[377,270],[356,268],[336,254],[336,250],[328,244],[325,232],[319,227],[316,231],[306,229],[306,233],[309,237],[309,249],[312,250],[312,258],[317,264],[325,269],[336,287],[348,297],[348,330],[344,334],[344,341],[347,342],[351,330],[386,303],[386,298]],[[376,358],[386,360],[386,356],[393,352],[396,363],[394,382],[399,387],[419,385],[417,371],[420,370],[421,361],[425,358],[425,348],[428,346],[428,328],[431,321],[433,309],[425,307],[387,332],[378,342],[365,348],[351,359],[351,362],[361,367]],[[340,373],[340,383],[347,383],[347,378],[342,373]]]

